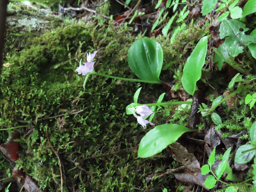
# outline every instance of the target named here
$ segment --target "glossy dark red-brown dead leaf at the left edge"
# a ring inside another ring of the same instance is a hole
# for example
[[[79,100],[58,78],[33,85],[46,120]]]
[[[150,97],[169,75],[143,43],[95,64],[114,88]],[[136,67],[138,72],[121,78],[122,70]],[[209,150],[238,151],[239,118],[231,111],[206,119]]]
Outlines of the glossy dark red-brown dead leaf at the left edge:
[[[0,145],[0,150],[4,153],[5,156],[7,156],[11,161],[17,161],[18,160],[18,149],[20,146],[19,142],[13,141],[14,139],[19,139],[20,133],[14,132],[12,133],[10,139]]]

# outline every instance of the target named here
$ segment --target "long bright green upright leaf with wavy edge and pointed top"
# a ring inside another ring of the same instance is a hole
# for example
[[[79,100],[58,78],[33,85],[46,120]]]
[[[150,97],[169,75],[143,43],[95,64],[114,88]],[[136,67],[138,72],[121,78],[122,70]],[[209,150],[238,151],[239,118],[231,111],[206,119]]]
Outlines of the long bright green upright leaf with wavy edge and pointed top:
[[[193,95],[197,90],[196,82],[202,75],[202,67],[204,66],[207,51],[207,39],[208,36],[204,36],[199,40],[183,69],[182,86],[190,95]]]

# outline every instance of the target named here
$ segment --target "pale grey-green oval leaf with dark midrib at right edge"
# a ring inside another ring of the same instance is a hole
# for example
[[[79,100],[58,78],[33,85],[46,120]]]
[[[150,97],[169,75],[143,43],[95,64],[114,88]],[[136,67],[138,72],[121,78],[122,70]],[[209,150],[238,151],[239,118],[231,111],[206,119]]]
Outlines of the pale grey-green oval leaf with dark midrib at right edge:
[[[242,145],[236,151],[235,162],[237,164],[246,164],[252,160],[256,154],[256,150],[245,152],[246,150],[255,148],[253,145]]]

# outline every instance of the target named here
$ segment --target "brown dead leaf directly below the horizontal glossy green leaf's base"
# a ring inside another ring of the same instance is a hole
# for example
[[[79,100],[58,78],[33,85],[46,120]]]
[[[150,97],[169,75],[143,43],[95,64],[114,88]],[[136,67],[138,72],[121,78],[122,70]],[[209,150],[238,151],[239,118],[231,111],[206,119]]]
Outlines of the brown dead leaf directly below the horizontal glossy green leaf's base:
[[[174,155],[173,159],[183,164],[189,172],[201,172],[201,167],[196,157],[188,153],[187,149],[180,143],[172,143],[172,150],[170,152]]]

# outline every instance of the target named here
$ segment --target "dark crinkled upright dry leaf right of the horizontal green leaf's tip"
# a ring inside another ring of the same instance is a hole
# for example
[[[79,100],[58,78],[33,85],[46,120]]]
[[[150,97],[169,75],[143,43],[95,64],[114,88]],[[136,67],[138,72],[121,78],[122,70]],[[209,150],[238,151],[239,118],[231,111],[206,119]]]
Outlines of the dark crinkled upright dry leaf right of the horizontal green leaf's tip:
[[[212,153],[213,148],[216,147],[217,145],[220,145],[220,138],[216,134],[214,127],[215,125],[211,124],[210,129],[206,131],[204,137],[204,148],[207,152],[208,157]]]

